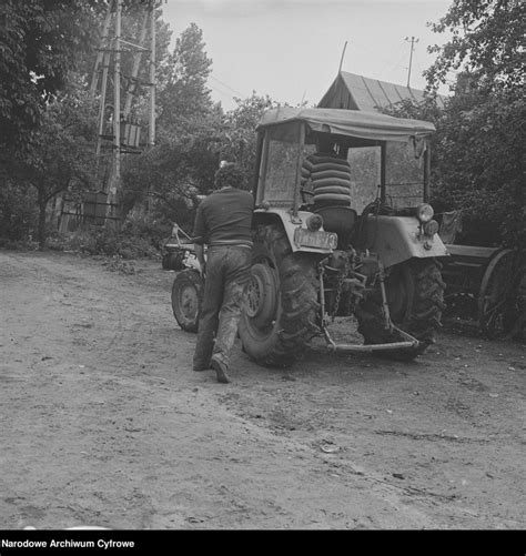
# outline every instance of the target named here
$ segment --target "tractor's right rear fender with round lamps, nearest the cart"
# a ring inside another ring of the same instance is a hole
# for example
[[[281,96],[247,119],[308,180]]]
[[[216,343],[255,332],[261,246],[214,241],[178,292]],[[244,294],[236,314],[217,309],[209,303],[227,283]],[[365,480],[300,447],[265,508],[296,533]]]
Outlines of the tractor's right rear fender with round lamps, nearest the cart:
[[[368,215],[358,240],[365,249],[378,254],[385,267],[413,257],[448,255],[439,235],[424,235],[421,223],[414,216]]]

